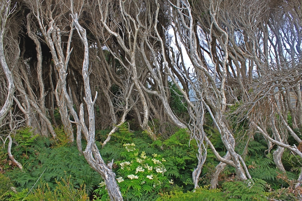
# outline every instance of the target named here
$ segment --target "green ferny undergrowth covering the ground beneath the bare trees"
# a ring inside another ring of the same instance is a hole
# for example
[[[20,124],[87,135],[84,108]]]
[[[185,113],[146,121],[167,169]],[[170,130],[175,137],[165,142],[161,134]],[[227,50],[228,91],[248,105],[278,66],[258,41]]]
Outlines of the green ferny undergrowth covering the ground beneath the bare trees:
[[[67,143],[62,129],[56,129],[58,139],[34,136],[30,128],[17,131],[12,153],[23,165],[23,171],[8,162],[1,164],[0,200],[109,200],[105,182],[93,171],[75,144]],[[107,131],[98,131],[99,138]],[[222,143],[214,129],[213,145]],[[211,173],[216,164],[208,149],[199,189],[194,190],[192,171],[196,167],[197,145],[190,141],[186,129],[179,129],[167,139],[151,141],[147,134],[131,132],[123,124],[100,152],[105,161],[114,159],[113,171],[125,200],[133,201],[264,201],[269,199],[298,200],[294,189],[301,160],[284,153],[286,173],[277,171],[272,154],[264,155],[265,142],[257,135],[247,146],[238,144],[245,153],[245,162],[253,179],[238,181],[235,170],[228,167],[220,174],[218,188],[210,189]],[[101,142],[101,141],[100,141]],[[244,142],[244,141],[242,141]],[[85,144],[83,144],[85,146]],[[223,155],[225,150],[221,149]],[[1,151],[1,161],[9,161]]]

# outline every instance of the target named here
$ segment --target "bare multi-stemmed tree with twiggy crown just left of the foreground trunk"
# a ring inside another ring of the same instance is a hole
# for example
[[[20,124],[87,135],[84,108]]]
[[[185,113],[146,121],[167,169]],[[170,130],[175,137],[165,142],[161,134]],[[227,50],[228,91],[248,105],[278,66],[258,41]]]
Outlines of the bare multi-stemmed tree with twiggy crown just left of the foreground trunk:
[[[67,66],[72,52],[71,38],[74,28],[73,23],[65,18],[65,14],[68,14],[69,10],[66,3],[62,1],[58,1],[55,4],[51,1],[44,1],[41,4],[38,0],[26,0],[26,3],[36,17],[41,33],[50,49],[59,78],[55,89],[55,96],[60,108],[59,111],[64,130],[69,136],[70,142],[73,142],[73,129],[69,119],[68,109],[74,118],[77,115],[66,88]],[[67,35],[63,35],[64,32],[67,33]],[[62,38],[65,38],[65,36],[67,36],[66,51],[64,51],[64,41],[62,41]],[[35,39],[33,35],[31,35],[31,37]],[[39,44],[38,41],[35,43]],[[40,92],[42,93],[42,91]]]

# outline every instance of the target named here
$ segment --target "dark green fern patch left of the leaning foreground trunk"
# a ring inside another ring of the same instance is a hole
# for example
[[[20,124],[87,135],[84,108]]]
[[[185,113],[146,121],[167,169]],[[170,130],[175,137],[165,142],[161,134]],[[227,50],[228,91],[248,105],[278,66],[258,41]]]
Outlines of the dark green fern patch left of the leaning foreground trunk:
[[[60,182],[61,178],[67,179],[71,175],[70,181],[74,187],[85,184],[87,192],[91,193],[101,181],[101,176],[91,169],[83,156],[79,156],[77,148],[49,146],[52,144],[49,144],[47,138],[38,137],[33,144],[26,147],[27,152],[22,151],[19,145],[14,147],[12,151],[22,163],[23,171],[15,169],[7,172],[7,175],[12,178],[17,189],[30,189],[41,176],[35,187],[48,183],[48,187],[54,190],[58,186],[56,180]]]

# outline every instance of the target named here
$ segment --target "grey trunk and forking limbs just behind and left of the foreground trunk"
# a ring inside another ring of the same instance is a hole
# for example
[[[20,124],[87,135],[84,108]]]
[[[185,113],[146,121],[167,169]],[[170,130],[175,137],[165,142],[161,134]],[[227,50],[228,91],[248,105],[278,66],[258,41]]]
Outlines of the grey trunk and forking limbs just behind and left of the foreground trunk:
[[[63,43],[61,41],[61,30],[56,25],[55,20],[53,19],[52,13],[48,13],[48,15],[44,16],[44,11],[42,10],[41,4],[38,0],[35,2],[30,2],[33,6],[33,12],[36,16],[39,28],[45,38],[45,41],[50,49],[53,62],[55,64],[56,70],[58,72],[58,83],[55,89],[55,97],[57,100],[57,104],[59,106],[59,112],[61,115],[62,124],[65,130],[66,135],[69,137],[70,142],[74,141],[73,129],[71,126],[71,122],[69,119],[69,114],[67,107],[70,111],[74,111],[72,101],[66,90],[66,76],[67,76],[67,65],[70,58],[70,54],[72,52],[70,43],[73,35],[73,26],[71,25],[71,30],[69,31],[68,41],[66,43],[66,54],[63,51]],[[46,3],[46,7],[50,7],[49,2]],[[50,9],[49,9],[50,11]],[[44,18],[45,17],[45,18]],[[48,22],[47,25],[44,23]],[[69,101],[69,102],[68,102]],[[75,117],[75,116],[74,116]]]

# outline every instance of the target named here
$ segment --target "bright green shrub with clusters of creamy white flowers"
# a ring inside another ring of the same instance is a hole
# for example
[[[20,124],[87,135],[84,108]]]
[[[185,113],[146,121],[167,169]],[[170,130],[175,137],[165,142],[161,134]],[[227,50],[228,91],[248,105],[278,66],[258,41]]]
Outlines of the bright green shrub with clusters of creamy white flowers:
[[[123,148],[121,157],[124,159],[116,162],[119,166],[116,180],[124,197],[156,196],[161,189],[173,183],[165,175],[165,158],[158,154],[148,156],[144,151],[140,152],[134,143],[123,144]],[[102,194],[106,186],[100,185],[98,190]]]

